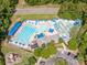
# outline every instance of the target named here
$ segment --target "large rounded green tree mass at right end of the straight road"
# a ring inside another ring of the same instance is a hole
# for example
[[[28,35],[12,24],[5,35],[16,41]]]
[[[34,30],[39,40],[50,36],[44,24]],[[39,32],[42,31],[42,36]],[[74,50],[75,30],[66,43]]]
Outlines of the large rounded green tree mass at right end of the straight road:
[[[61,18],[73,19],[73,20],[81,18],[77,4],[74,4],[72,2],[62,3],[58,15]]]

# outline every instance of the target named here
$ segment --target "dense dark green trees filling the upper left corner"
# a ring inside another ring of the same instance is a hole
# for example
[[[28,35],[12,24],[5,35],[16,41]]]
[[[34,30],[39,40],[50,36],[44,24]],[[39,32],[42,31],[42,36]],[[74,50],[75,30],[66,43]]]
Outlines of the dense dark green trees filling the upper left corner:
[[[0,32],[1,36],[6,35],[6,31],[9,29],[11,21],[10,17],[14,13],[15,4],[18,3],[18,0],[0,0],[0,21],[2,22],[2,25],[0,25]]]

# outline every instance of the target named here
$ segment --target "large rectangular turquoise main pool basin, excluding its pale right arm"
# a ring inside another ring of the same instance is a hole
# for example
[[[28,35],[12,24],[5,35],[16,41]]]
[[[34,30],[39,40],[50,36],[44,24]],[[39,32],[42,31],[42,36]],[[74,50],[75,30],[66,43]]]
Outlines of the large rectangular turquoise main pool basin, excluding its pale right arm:
[[[35,29],[30,25],[23,26],[22,31],[17,35],[15,41],[21,44],[29,44],[30,37],[35,33]]]

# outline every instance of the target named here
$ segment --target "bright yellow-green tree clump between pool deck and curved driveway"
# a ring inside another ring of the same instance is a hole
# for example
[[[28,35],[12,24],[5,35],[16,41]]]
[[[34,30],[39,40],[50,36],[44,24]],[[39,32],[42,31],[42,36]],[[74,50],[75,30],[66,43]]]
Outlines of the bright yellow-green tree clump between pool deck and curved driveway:
[[[45,47],[39,47],[34,51],[35,56],[42,56],[44,58],[50,57],[51,55],[57,52],[54,42],[50,42]]]

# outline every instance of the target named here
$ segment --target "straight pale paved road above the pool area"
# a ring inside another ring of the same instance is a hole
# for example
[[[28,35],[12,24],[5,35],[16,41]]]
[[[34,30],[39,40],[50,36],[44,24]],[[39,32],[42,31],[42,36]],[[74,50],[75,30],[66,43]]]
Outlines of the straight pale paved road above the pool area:
[[[59,8],[26,8],[15,9],[14,14],[57,14]]]

